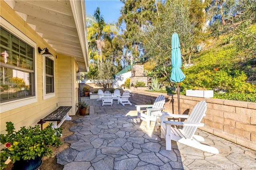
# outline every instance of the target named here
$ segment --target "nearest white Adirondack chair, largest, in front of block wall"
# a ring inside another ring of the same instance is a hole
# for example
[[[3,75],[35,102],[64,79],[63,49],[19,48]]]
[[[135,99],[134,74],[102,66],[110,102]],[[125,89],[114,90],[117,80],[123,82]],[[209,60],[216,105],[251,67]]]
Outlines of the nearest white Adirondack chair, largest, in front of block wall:
[[[213,146],[201,144],[199,141],[204,141],[202,136],[196,135],[197,127],[203,127],[204,123],[200,123],[205,116],[206,102],[200,101],[196,104],[190,115],[168,114],[161,116],[161,138],[166,140],[166,150],[172,150],[171,140],[210,152],[218,154],[219,151]],[[167,117],[172,118],[187,118],[185,122],[166,121]],[[175,125],[175,126],[172,126]],[[178,128],[183,126],[182,129]]]

